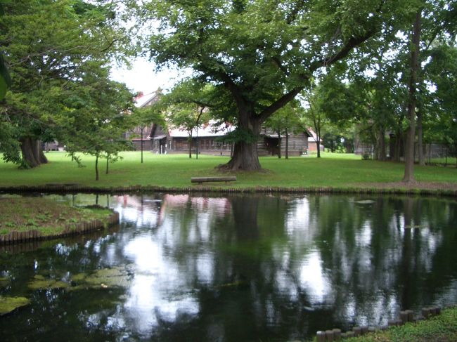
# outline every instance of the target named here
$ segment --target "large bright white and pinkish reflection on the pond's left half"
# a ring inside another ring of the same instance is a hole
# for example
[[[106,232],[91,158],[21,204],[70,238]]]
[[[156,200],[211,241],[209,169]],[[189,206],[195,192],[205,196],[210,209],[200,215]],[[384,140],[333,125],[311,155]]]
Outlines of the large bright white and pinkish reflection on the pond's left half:
[[[198,315],[199,303],[194,296],[193,282],[189,281],[186,272],[192,268],[200,284],[212,284],[214,258],[209,252],[202,251],[195,260],[188,259],[184,265],[176,263],[173,253],[181,248],[183,236],[177,229],[174,211],[179,213],[184,206],[198,211],[198,219],[187,223],[184,242],[198,244],[209,241],[210,216],[226,213],[230,207],[228,201],[165,195],[162,201],[123,196],[116,202],[115,209],[120,212],[121,219],[148,228],[130,239],[123,249],[124,255],[135,265],[124,308],[136,330],[147,334],[162,321],[175,322],[179,316]]]

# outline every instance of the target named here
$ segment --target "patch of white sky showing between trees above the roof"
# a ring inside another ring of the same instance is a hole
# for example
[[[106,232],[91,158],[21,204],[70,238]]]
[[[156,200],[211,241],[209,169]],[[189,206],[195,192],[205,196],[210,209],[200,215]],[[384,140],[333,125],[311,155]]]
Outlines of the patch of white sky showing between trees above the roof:
[[[155,65],[147,58],[137,58],[127,67],[112,67],[111,79],[127,84],[131,91],[148,94],[162,88],[166,91],[184,77],[191,76],[191,70],[164,69],[155,72]]]

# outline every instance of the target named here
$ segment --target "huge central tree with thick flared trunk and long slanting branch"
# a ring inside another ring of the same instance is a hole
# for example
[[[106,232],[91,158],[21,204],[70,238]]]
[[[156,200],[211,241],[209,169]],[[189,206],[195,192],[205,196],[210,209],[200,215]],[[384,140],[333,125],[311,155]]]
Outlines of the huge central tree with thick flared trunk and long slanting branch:
[[[231,170],[260,169],[257,139],[264,121],[375,34],[394,31],[411,0],[150,1],[145,19],[157,65],[191,67],[224,92],[240,137]],[[146,13],[146,14],[145,14]],[[154,25],[151,25],[154,26]]]

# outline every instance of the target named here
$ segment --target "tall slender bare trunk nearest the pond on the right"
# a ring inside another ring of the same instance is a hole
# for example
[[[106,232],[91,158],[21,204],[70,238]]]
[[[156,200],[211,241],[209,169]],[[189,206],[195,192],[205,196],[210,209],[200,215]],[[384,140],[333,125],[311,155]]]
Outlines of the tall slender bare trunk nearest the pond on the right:
[[[409,128],[405,146],[405,173],[403,181],[411,183],[414,179],[414,140],[416,138],[416,83],[419,69],[418,55],[420,49],[420,19],[422,10],[416,13],[411,44],[411,79],[409,81],[408,120]]]

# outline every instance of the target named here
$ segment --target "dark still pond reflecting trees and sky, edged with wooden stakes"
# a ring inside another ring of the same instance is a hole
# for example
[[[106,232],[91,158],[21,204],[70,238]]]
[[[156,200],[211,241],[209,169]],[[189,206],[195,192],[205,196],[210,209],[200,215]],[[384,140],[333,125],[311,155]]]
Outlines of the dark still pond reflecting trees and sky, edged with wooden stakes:
[[[120,225],[1,247],[4,341],[290,341],[457,303],[457,203],[359,195],[51,195]]]

